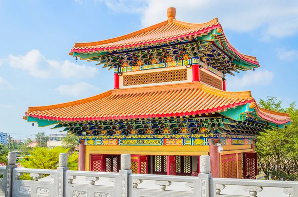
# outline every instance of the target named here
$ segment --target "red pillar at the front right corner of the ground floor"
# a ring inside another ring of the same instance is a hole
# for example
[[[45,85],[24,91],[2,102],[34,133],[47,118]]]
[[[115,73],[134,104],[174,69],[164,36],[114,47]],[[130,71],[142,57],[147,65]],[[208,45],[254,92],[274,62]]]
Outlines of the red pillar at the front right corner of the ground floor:
[[[213,140],[213,143],[211,142]],[[220,142],[220,139],[208,139],[209,142],[209,156],[210,156],[210,167],[211,174],[214,178],[220,178],[220,153],[216,143]]]

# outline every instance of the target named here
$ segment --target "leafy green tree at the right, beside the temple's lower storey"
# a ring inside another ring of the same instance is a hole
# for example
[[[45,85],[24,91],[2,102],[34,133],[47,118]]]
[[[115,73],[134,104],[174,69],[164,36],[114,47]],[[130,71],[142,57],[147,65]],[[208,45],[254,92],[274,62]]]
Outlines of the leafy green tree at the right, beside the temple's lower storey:
[[[282,101],[275,97],[260,99],[259,105],[263,108],[289,113],[293,121],[292,125],[284,129],[266,131],[257,136],[256,152],[258,163],[262,171],[275,180],[298,179],[298,109],[295,102],[288,108],[282,107]]]

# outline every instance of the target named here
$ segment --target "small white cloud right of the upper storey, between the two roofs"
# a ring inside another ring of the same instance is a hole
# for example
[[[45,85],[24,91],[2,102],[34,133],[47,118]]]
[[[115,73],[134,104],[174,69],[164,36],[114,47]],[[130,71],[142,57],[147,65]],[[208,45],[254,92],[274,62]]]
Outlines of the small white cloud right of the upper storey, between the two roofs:
[[[273,72],[256,69],[255,71],[249,71],[243,74],[242,77],[228,77],[226,85],[228,91],[238,90],[253,85],[267,86],[272,82],[273,77]]]

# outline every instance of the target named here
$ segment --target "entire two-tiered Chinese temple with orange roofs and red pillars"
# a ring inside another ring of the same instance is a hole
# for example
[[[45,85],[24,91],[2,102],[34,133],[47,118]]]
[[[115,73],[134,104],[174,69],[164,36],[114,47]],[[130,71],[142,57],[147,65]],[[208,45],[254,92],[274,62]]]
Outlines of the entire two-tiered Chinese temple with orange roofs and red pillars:
[[[289,114],[258,107],[250,91],[226,91],[227,75],[260,65],[228,42],[217,18],[182,22],[168,8],[164,22],[75,43],[70,55],[112,70],[114,89],[29,107],[24,119],[76,135],[79,170],[118,172],[129,153],[133,173],[194,176],[210,155],[213,177],[254,178],[256,136],[291,124]]]

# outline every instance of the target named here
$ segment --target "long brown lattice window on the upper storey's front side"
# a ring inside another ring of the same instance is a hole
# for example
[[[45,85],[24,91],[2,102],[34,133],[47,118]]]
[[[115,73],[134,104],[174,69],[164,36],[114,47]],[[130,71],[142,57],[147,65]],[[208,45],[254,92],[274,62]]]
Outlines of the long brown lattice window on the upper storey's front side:
[[[187,69],[123,76],[123,86],[187,80]]]

